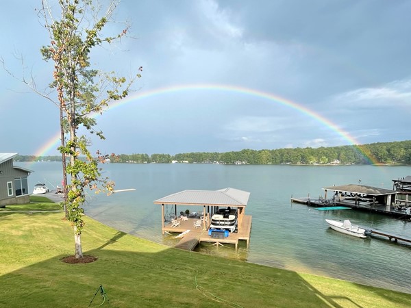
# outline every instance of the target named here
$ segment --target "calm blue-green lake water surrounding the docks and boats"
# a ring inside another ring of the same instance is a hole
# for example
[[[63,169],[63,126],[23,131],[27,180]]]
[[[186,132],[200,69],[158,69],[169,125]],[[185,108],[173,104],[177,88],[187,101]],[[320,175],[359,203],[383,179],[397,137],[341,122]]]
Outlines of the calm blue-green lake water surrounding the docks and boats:
[[[61,163],[15,163],[34,170],[38,182],[61,185]],[[388,239],[359,239],[328,228],[325,218],[411,238],[411,222],[353,209],[318,211],[290,203],[290,197],[323,196],[321,188],[358,183],[393,189],[393,179],[411,175],[406,166],[227,166],[219,164],[106,164],[103,175],[116,182],[112,196],[90,194],[86,214],[104,224],[153,242],[173,245],[161,232],[161,206],[153,201],[182,190],[232,187],[251,192],[246,214],[253,216],[250,247],[240,244],[199,251],[256,264],[308,272],[411,293],[411,245]],[[196,207],[188,207],[196,211]],[[186,207],[177,207],[177,213]],[[171,207],[167,211],[172,211]],[[199,209],[198,209],[199,210]]]

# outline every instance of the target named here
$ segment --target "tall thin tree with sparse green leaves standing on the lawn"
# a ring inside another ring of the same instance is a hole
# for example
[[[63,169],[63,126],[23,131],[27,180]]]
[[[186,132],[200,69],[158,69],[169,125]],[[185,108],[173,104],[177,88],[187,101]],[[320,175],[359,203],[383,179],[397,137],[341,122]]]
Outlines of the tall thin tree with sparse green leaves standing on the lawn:
[[[59,150],[64,167],[64,205],[66,216],[73,225],[75,257],[82,258],[86,190],[104,190],[111,194],[114,183],[101,178],[98,163],[107,157],[100,153],[97,153],[97,159],[93,157],[89,151],[89,140],[79,134],[79,127],[85,127],[89,133],[104,139],[103,133],[95,130],[97,123],[93,115],[102,114],[110,102],[126,97],[132,82],[140,77],[141,68],[127,81],[125,77],[103,73],[90,64],[93,47],[112,44],[127,34],[128,27],[114,36],[103,37],[101,34],[119,1],[111,1],[105,12],[94,6],[91,0],[58,0],[57,3],[57,6],[52,6],[49,1],[42,1],[40,14],[49,31],[50,44],[42,47],[41,53],[46,61],[54,64],[50,86],[57,93],[56,105],[60,108],[62,143]],[[82,155],[86,159],[80,159]],[[67,166],[66,157],[69,158]]]

